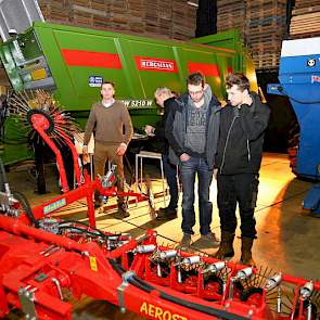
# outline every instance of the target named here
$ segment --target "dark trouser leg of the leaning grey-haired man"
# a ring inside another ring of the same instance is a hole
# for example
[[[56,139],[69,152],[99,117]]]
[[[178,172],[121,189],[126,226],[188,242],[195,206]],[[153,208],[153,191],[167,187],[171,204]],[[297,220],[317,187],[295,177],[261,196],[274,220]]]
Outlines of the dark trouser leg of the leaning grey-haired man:
[[[162,155],[164,163],[164,171],[169,185],[170,202],[168,208],[176,210],[178,207],[179,190],[178,190],[178,177],[177,167],[169,162],[167,154]]]

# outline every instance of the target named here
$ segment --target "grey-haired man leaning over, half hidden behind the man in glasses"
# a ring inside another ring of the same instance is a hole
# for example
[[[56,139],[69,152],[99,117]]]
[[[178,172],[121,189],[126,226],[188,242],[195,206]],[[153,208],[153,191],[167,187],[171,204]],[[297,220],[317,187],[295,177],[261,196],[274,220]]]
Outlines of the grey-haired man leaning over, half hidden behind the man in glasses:
[[[156,127],[146,125],[145,133],[151,137],[155,137],[159,142],[162,158],[164,164],[165,176],[169,185],[170,202],[167,207],[159,208],[156,215],[157,220],[170,220],[177,218],[177,207],[179,200],[177,166],[169,162],[169,142],[166,139],[165,123],[170,112],[172,104],[175,103],[175,95],[171,90],[166,87],[159,87],[154,93],[157,105],[163,108],[163,117],[156,124]]]

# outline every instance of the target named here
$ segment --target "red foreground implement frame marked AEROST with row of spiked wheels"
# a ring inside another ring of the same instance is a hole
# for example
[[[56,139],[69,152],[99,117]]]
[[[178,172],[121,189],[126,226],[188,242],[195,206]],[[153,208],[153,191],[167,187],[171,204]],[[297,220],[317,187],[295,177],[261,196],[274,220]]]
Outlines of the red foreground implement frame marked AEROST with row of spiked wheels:
[[[18,206],[8,212],[0,318],[15,307],[28,319],[72,319],[71,297],[85,295],[148,319],[319,319],[319,282],[161,246],[153,230],[131,239],[34,209],[31,226]]]

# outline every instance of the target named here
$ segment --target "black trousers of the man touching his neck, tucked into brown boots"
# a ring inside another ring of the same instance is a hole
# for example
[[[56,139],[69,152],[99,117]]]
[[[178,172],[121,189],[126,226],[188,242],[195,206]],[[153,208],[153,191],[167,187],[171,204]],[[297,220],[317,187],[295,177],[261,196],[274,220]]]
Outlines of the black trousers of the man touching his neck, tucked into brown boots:
[[[218,207],[222,231],[234,233],[236,229],[235,208],[239,203],[242,236],[256,238],[254,212],[258,194],[258,178],[256,174],[232,176],[218,174]]]

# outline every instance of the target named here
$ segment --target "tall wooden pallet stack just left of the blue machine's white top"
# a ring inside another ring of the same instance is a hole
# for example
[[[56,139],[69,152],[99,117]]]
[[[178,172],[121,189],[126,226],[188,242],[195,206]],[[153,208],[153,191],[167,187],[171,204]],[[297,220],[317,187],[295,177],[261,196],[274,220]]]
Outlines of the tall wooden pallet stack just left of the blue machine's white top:
[[[256,68],[279,66],[286,36],[286,0],[246,0],[244,39]]]

